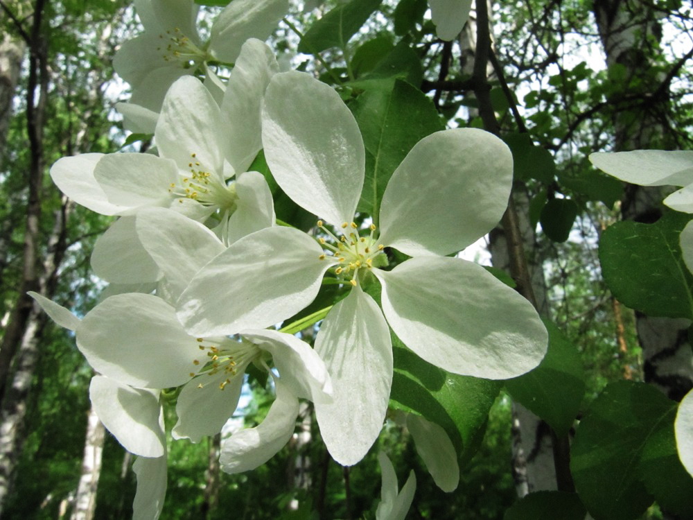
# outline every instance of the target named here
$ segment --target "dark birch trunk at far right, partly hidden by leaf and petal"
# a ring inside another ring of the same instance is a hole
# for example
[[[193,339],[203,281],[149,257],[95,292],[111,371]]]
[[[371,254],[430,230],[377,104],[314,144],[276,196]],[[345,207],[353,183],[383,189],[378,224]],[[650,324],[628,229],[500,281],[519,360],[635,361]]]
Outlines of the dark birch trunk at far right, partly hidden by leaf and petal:
[[[608,67],[622,66],[626,78],[640,78],[640,90],[615,94],[609,101],[615,107],[614,149],[676,148],[670,136],[669,89],[663,77],[652,77],[653,58],[658,56],[661,27],[657,12],[641,0],[599,0],[594,4],[595,19],[604,46]],[[622,107],[624,98],[630,101]],[[640,99],[633,103],[633,98]],[[622,200],[622,217],[651,223],[659,218],[660,187],[629,184]],[[681,398],[693,388],[693,356],[688,340],[689,320],[653,318],[636,313],[638,341],[644,358],[645,381],[656,385],[672,399]]]

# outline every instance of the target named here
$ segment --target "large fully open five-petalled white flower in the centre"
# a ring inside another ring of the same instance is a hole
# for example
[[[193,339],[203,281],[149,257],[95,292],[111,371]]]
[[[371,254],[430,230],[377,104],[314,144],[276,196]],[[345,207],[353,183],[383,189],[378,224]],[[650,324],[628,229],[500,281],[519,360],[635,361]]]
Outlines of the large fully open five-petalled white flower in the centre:
[[[345,465],[364,456],[383,424],[392,382],[389,327],[423,359],[456,374],[506,379],[538,365],[547,333],[532,306],[484,268],[443,256],[489,232],[505,211],[512,159],[500,139],[474,129],[422,139],[387,185],[380,235],[371,227],[359,236],[352,221],[365,153],[340,96],[305,73],[280,73],[267,87],[263,114],[275,180],[342,236],[325,242],[327,251],[283,227],[240,239],[182,294],[178,315],[188,331],[234,333],[286,320],[313,301],[334,268],[353,289],[317,336],[334,404],[317,404],[316,412],[330,453]],[[385,247],[413,258],[380,269]],[[367,272],[382,285],[383,312],[360,287]]]

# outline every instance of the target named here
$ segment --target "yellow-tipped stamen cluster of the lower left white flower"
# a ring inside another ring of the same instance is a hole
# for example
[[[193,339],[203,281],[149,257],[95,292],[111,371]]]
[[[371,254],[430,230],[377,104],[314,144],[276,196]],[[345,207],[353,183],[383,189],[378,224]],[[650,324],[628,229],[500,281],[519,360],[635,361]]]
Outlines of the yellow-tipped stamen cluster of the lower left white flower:
[[[234,341],[229,338],[197,338],[198,348],[202,351],[198,358],[193,359],[193,365],[200,367],[198,372],[190,372],[191,377],[215,376],[224,372],[226,379],[219,383],[219,389],[226,385],[240,370],[243,375],[245,367],[260,357],[261,350],[248,341]],[[198,388],[203,388],[204,381],[200,379]]]

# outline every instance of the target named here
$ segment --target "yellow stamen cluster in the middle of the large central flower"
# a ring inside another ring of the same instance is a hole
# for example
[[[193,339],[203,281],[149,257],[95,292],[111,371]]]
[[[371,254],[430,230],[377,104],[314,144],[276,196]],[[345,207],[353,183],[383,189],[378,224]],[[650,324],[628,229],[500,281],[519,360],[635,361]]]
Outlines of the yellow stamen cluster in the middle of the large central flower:
[[[324,260],[327,254],[333,254],[339,263],[335,268],[335,274],[338,277],[351,277],[349,283],[356,286],[359,270],[369,270],[374,267],[374,261],[380,255],[383,255],[383,244],[378,243],[378,239],[374,236],[376,226],[369,226],[370,234],[360,236],[356,223],[345,222],[342,224],[342,232],[340,238],[337,238],[329,229],[327,229],[322,220],[317,221],[317,227],[322,229],[324,233],[330,236],[337,245],[327,243],[324,238],[319,238],[320,245],[328,253],[321,254],[319,259]],[[377,262],[376,262],[377,263]]]

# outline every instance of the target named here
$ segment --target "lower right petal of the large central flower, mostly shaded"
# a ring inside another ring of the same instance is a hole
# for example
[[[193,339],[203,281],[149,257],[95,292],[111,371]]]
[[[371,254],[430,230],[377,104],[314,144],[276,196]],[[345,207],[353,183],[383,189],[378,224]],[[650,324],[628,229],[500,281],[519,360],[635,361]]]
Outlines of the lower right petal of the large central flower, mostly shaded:
[[[546,353],[547,332],[534,307],[473,262],[419,257],[374,274],[390,327],[444,370],[508,379],[532,370]]]

